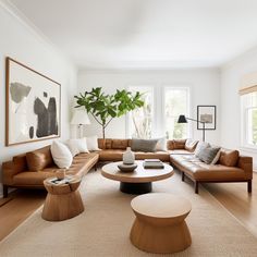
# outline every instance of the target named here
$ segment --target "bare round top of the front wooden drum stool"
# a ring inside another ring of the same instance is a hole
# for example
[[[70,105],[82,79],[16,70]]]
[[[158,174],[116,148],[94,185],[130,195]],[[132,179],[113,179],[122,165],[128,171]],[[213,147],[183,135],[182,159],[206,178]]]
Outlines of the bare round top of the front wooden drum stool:
[[[191,203],[168,193],[150,193],[135,197],[131,201],[137,213],[154,218],[179,218],[189,213]]]

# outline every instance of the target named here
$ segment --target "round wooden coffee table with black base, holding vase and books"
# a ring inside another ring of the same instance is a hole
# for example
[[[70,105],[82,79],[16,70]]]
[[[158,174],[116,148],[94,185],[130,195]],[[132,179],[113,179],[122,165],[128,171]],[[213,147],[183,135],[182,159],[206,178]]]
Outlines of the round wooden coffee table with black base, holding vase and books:
[[[111,162],[101,168],[101,174],[110,180],[120,181],[120,191],[127,194],[146,194],[151,192],[151,182],[168,179],[174,174],[173,168],[163,163],[163,169],[145,169],[143,161],[136,161],[137,168],[133,172],[122,172],[118,164]]]

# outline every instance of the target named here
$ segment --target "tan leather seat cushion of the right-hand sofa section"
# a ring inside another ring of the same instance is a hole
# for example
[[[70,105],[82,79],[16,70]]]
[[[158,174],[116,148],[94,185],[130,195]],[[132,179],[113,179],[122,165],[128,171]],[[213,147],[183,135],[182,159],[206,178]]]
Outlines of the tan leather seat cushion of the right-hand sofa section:
[[[222,164],[206,164],[193,155],[171,155],[171,162],[196,181],[245,180],[243,169]]]

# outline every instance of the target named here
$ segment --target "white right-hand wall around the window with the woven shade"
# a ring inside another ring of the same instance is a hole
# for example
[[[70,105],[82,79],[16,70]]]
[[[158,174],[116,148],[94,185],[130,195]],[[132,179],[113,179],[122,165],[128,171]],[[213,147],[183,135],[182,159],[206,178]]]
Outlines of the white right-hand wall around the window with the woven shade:
[[[254,158],[257,170],[257,151],[242,148],[240,124],[240,95],[242,77],[257,72],[257,48],[236,58],[221,69],[221,144]]]

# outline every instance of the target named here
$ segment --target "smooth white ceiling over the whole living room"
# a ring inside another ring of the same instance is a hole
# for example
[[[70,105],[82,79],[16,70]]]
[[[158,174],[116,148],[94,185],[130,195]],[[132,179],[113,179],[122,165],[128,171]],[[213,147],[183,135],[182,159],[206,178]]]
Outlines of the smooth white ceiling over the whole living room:
[[[81,69],[219,66],[257,45],[257,0],[10,0]]]

